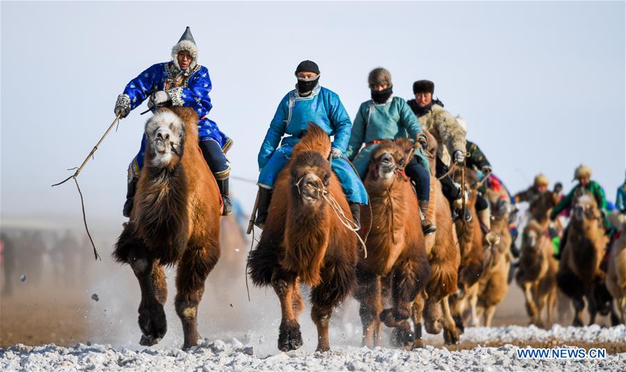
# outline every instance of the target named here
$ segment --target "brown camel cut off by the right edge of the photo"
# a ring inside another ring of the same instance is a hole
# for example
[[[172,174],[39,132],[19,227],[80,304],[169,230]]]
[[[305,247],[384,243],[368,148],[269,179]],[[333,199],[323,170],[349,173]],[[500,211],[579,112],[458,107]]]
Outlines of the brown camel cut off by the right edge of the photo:
[[[620,322],[626,324],[626,215],[617,211],[609,215],[611,225],[620,236],[613,242],[607,270],[607,289],[620,310]]]

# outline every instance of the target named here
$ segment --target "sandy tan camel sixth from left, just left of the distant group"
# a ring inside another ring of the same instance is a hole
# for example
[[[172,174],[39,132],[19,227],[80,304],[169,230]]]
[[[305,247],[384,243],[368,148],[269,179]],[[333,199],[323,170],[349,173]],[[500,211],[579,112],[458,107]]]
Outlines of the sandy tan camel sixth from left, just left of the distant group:
[[[489,190],[487,199],[492,206],[492,231],[500,237],[493,247],[486,247],[485,268],[478,283],[467,290],[471,307],[472,325],[478,327],[484,314],[483,325],[491,327],[496,306],[508,292],[508,272],[512,257],[511,235],[508,231],[508,206],[505,199]]]

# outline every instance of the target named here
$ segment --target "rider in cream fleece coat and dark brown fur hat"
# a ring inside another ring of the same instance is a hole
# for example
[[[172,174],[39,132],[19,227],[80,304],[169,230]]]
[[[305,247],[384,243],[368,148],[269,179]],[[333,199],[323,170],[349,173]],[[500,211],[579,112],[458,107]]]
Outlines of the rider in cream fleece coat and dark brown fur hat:
[[[462,188],[455,185],[448,173],[451,165],[451,155],[454,162],[462,163],[465,160],[465,136],[454,116],[444,109],[439,99],[432,100],[435,92],[435,83],[430,80],[418,80],[413,83],[414,100],[407,101],[409,107],[419,119],[424,130],[437,140],[437,165],[435,176],[441,178],[441,191],[453,206],[454,219],[461,215]],[[445,176],[444,176],[445,175]],[[465,220],[471,220],[469,208],[465,207]]]

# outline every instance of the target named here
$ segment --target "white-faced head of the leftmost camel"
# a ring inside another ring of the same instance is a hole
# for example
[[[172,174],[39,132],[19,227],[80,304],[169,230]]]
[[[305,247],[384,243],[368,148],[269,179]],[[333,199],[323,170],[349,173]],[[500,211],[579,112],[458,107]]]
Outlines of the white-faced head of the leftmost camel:
[[[185,123],[169,109],[160,109],[146,123],[146,160],[155,168],[172,169],[182,157]]]

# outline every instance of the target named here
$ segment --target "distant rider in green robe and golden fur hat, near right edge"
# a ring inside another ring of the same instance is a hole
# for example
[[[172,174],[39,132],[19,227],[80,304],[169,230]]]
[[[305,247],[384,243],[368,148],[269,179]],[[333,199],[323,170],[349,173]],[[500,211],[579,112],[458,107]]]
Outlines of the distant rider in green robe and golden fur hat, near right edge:
[[[570,193],[565,196],[565,198],[561,199],[558,204],[552,208],[552,212],[550,212],[550,219],[554,221],[556,216],[565,208],[568,208],[572,205],[572,201],[574,196],[579,192],[588,192],[593,195],[595,201],[597,202],[597,208],[600,210],[602,214],[602,219],[604,222],[604,228],[609,228],[609,222],[607,220],[607,216],[609,215],[609,210],[607,209],[607,198],[604,196],[604,189],[597,182],[591,180],[591,169],[584,165],[580,164],[578,168],[574,171],[574,179],[578,180],[579,184],[576,185]],[[568,230],[570,225],[565,228],[563,231],[563,238],[561,239],[561,245],[558,249],[558,254],[556,254],[557,259],[561,259],[561,255],[563,254],[563,248],[565,248],[565,243],[568,240]]]

